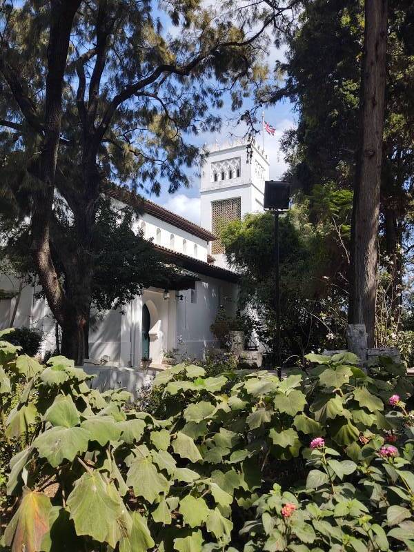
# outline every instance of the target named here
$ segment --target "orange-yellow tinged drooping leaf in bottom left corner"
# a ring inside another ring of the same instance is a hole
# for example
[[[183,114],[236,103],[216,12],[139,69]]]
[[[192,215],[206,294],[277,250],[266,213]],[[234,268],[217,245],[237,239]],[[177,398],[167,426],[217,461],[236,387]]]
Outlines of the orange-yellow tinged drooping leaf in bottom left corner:
[[[11,552],[37,552],[41,550],[43,536],[49,531],[49,497],[43,493],[23,491],[23,499],[4,533],[4,544]]]

